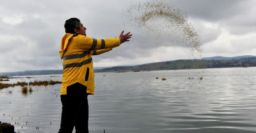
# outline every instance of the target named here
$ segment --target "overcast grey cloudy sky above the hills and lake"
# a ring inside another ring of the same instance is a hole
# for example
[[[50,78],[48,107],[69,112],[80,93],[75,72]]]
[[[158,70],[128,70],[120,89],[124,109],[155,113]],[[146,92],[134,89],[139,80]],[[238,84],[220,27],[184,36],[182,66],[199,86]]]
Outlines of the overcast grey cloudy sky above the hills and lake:
[[[136,2],[145,2],[137,0]],[[256,0],[163,0],[187,12],[202,38],[204,54],[256,55]],[[64,23],[79,18],[92,38],[133,34],[130,42],[93,56],[94,67],[136,65],[185,59],[186,50],[169,45],[165,36],[138,32],[120,16],[129,0],[1,0],[0,72],[49,70],[62,67],[59,56]],[[135,1],[134,1],[135,2]],[[158,25],[155,25],[158,27]]]

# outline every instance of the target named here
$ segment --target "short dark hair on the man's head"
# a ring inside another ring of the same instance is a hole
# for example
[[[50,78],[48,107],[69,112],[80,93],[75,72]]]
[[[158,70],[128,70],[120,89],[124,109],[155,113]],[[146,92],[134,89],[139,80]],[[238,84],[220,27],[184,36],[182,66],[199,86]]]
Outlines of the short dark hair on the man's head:
[[[74,29],[80,29],[80,20],[78,18],[70,18],[66,20],[64,27],[65,32],[70,34],[75,34]]]

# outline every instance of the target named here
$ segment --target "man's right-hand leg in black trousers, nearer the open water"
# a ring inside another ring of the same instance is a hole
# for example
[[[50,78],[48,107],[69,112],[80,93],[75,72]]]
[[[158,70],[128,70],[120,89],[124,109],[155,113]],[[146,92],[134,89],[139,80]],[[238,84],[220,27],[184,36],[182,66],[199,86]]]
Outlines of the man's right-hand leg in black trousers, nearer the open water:
[[[77,115],[75,122],[76,133],[89,133],[88,130],[89,106],[87,96],[84,96],[84,102]]]

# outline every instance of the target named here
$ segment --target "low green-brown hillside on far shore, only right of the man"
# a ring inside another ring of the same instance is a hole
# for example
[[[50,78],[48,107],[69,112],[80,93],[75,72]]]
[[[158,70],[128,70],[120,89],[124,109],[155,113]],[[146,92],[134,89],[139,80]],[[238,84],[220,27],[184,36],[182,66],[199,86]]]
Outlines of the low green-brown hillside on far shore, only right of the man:
[[[109,71],[133,71],[133,70],[176,70],[176,69],[199,69],[199,68],[229,68],[256,66],[256,57],[231,59],[231,60],[176,60],[164,61],[136,66],[112,67],[95,72]]]

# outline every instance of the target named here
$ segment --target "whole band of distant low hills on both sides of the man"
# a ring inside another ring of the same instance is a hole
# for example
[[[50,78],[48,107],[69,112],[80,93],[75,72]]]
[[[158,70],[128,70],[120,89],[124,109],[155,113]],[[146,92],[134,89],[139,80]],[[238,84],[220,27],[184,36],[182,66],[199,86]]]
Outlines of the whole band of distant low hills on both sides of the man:
[[[198,69],[198,68],[228,68],[228,67],[250,67],[256,66],[256,56],[236,56],[223,57],[214,56],[204,60],[176,60],[163,61],[156,63],[146,63],[142,65],[119,65],[113,67],[94,68],[95,72],[113,72],[113,71],[134,71],[134,70],[176,70],[176,69]],[[0,72],[0,76],[24,76],[24,75],[42,75],[42,74],[63,74],[63,70],[34,70],[24,72]]]

